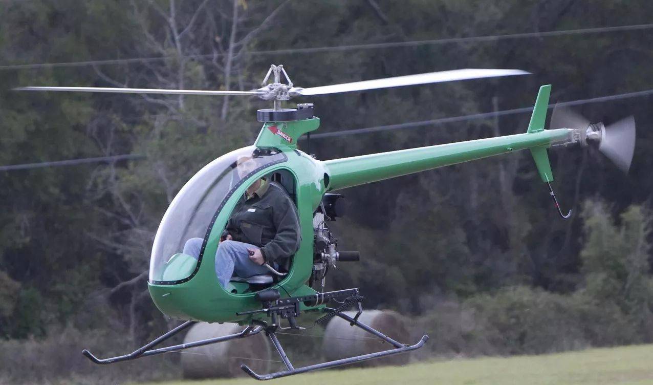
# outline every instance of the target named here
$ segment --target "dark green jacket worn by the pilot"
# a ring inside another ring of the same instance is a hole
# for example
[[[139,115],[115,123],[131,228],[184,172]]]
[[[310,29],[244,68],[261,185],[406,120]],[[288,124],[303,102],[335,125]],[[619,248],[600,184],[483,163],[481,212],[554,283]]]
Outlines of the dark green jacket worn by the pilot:
[[[225,233],[234,241],[260,247],[267,262],[279,265],[287,265],[287,258],[299,250],[302,241],[295,203],[283,187],[270,181],[238,202]]]

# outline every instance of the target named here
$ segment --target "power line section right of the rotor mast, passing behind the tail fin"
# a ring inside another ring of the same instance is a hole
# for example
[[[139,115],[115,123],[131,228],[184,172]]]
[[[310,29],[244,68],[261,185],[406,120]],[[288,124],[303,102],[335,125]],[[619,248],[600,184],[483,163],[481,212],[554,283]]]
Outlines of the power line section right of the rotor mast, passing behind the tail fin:
[[[611,101],[617,99],[627,99],[629,97],[641,97],[646,95],[653,94],[653,90],[639,91],[639,92],[629,92],[629,93],[619,93],[616,95],[607,95],[601,97],[593,97],[591,99],[579,99],[574,101],[565,101],[558,103],[558,106],[577,106],[584,105],[588,103],[601,103],[603,101]],[[549,105],[549,109],[552,109],[555,105]],[[347,129],[342,131],[334,131],[327,133],[319,133],[311,135],[311,139],[320,139],[320,138],[330,138],[330,137],[342,137],[347,135],[358,135],[364,133],[372,133],[379,131],[388,131],[394,129],[404,129],[404,128],[413,128],[413,127],[423,127],[423,126],[438,126],[441,124],[455,123],[455,122],[465,122],[467,120],[477,120],[477,119],[486,119],[493,118],[494,116],[504,116],[504,115],[513,115],[513,114],[524,114],[526,112],[532,112],[533,107],[522,107],[520,109],[511,109],[511,110],[501,110],[495,112],[483,112],[481,114],[471,114],[471,115],[462,115],[462,116],[451,116],[449,118],[439,118],[433,120],[422,120],[421,122],[409,122],[409,123],[400,123],[400,124],[389,124],[387,126],[376,126],[376,127],[367,127],[367,128],[358,128],[358,129]]]

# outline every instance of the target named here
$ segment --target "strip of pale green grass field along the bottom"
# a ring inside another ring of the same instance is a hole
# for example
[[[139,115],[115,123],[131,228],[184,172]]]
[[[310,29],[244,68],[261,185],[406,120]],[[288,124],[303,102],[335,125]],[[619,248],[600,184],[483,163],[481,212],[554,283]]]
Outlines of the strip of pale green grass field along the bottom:
[[[318,371],[272,384],[653,384],[653,345],[591,349],[542,356],[474,358],[413,363],[402,367]],[[261,384],[250,378],[172,381],[157,385]],[[153,384],[151,384],[153,385]]]

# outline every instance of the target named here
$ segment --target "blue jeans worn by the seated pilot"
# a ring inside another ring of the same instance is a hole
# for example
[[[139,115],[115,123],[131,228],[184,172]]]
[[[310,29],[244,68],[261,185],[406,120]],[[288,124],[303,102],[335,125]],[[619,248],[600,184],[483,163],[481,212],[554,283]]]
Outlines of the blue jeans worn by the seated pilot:
[[[183,245],[183,254],[188,254],[196,259],[199,258],[202,242],[204,242],[204,239],[201,238],[189,239]],[[237,241],[222,241],[217,246],[217,252],[215,252],[215,275],[217,275],[217,280],[223,288],[227,287],[234,273],[242,278],[270,273],[266,267],[257,265],[249,259],[247,248],[258,247],[253,244]]]

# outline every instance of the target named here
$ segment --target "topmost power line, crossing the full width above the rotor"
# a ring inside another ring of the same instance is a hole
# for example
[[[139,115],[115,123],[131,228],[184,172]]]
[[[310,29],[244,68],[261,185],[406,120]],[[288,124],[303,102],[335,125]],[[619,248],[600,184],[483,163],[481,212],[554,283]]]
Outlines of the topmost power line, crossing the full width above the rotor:
[[[531,38],[541,38],[541,37],[556,37],[556,36],[563,36],[563,35],[587,35],[591,33],[639,31],[639,30],[651,29],[651,28],[653,28],[653,24],[617,25],[614,27],[564,29],[562,31],[510,33],[507,35],[451,37],[447,39],[434,39],[434,40],[381,42],[381,43],[353,44],[353,45],[345,45],[345,46],[323,46],[323,47],[311,47],[311,48],[285,48],[281,50],[259,50],[259,51],[244,52],[244,55],[253,56],[253,55],[278,55],[278,54],[315,54],[319,52],[372,50],[372,49],[379,49],[379,48],[398,48],[398,47],[411,47],[411,46],[421,46],[421,45],[436,45],[436,44],[451,44],[451,43],[466,43],[466,42],[488,42],[488,41],[500,41],[500,40],[508,40],[508,39],[531,39]],[[225,54],[199,54],[199,55],[188,55],[184,57],[190,59],[200,59],[200,58],[214,58],[215,56],[225,56]],[[176,58],[176,56],[150,56],[144,58],[67,61],[67,62],[57,62],[57,63],[12,64],[12,65],[0,65],[0,70],[38,69],[38,68],[52,68],[52,67],[81,67],[84,65],[129,64],[129,63],[162,61],[170,58]]]

